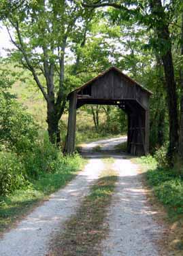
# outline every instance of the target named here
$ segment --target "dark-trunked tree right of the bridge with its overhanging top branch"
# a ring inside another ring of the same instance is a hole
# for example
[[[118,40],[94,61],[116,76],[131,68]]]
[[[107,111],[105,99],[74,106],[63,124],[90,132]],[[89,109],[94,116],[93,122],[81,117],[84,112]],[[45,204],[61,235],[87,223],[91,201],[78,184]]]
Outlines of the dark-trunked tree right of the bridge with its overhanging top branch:
[[[159,51],[165,71],[167,102],[169,107],[169,160],[172,163],[173,155],[178,152],[178,101],[176,94],[176,81],[174,77],[173,59],[171,53],[171,37],[169,33],[169,16],[161,0],[135,1],[105,1],[97,3],[84,3],[84,7],[114,7],[123,20],[133,18],[137,24],[146,25],[154,29],[156,38],[151,39],[151,46]],[[149,9],[150,8],[150,9]],[[149,12],[150,11],[150,12]]]

